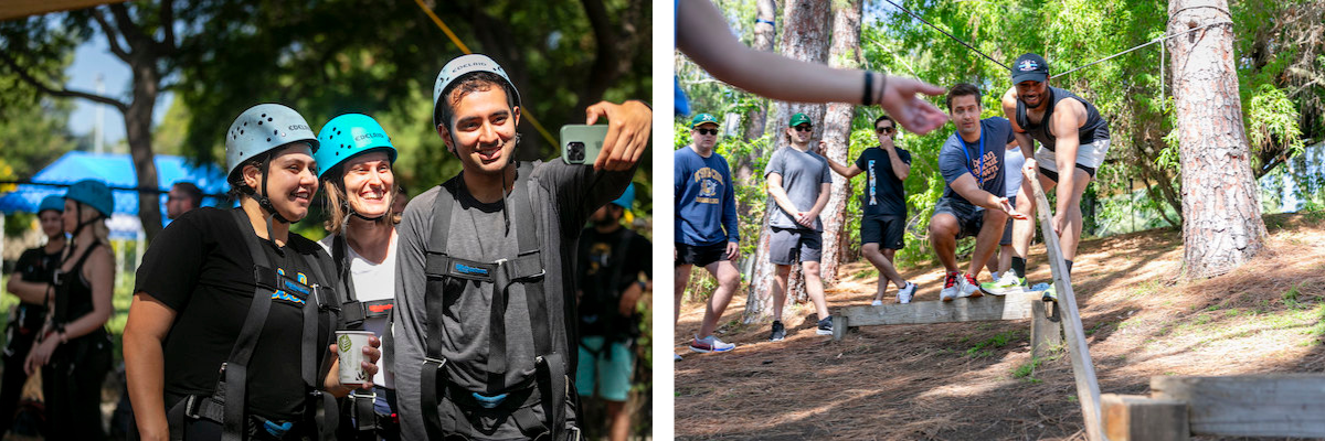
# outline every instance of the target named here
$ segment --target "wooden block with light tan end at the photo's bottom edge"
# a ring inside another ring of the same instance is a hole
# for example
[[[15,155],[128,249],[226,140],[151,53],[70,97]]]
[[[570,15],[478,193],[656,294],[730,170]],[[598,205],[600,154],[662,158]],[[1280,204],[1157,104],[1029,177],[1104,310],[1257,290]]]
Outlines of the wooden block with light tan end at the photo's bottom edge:
[[[1100,396],[1104,434],[1110,441],[1187,441],[1187,403],[1142,395]]]

